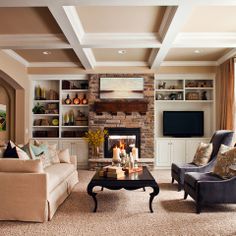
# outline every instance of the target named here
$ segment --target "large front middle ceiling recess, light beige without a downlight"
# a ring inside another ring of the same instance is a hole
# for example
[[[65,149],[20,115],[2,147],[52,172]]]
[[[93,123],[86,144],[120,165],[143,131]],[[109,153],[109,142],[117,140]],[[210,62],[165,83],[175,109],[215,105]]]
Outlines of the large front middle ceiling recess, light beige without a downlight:
[[[77,7],[86,33],[158,32],[166,7]]]

